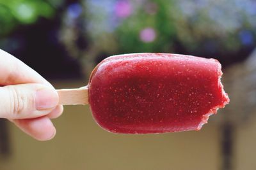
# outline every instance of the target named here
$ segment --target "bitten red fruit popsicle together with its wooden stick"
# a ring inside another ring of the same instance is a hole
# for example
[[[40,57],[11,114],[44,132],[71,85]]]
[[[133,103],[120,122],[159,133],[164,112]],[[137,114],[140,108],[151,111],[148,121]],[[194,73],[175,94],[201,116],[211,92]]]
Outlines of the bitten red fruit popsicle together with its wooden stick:
[[[86,87],[60,90],[61,104],[90,104],[109,132],[200,130],[229,102],[218,60],[170,53],[131,53],[102,60]],[[74,101],[75,100],[75,101]]]

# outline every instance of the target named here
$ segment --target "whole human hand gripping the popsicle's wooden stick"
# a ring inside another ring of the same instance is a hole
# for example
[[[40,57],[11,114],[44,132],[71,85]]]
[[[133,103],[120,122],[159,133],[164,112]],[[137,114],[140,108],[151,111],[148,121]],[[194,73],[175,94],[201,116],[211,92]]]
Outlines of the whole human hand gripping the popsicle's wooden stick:
[[[63,112],[52,85],[19,59],[0,49],[0,118],[40,141],[52,139],[51,118]]]

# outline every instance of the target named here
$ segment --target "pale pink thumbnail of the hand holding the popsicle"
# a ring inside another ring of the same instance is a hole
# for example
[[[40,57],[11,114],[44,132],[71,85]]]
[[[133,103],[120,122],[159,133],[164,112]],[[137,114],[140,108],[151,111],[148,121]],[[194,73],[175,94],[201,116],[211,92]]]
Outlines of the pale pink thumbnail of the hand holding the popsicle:
[[[36,91],[35,103],[37,110],[47,110],[57,106],[59,97],[54,89],[40,89]]]

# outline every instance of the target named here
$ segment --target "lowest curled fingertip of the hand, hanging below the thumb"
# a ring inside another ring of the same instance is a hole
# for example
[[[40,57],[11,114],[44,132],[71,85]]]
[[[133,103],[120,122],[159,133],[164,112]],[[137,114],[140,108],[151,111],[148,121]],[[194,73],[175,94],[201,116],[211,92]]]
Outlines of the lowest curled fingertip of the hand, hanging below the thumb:
[[[56,129],[48,117],[16,119],[12,122],[26,134],[39,141],[50,140],[56,134]]]

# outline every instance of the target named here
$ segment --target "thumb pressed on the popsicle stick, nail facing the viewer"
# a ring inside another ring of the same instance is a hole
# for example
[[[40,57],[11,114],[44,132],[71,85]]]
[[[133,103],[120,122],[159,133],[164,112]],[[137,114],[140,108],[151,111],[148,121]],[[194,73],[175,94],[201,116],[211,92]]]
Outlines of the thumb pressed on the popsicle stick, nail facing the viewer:
[[[58,93],[42,84],[0,87],[0,118],[19,119],[42,117],[56,108]]]

